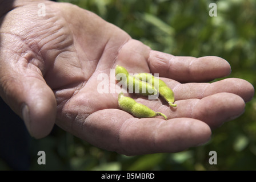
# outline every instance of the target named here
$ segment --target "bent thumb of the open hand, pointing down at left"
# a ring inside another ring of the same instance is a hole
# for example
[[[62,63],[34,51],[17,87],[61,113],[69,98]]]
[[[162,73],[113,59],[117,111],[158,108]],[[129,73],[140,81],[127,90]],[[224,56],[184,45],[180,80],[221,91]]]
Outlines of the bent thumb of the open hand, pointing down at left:
[[[1,70],[0,90],[3,100],[23,119],[32,137],[42,138],[51,132],[57,104],[53,91],[38,72],[27,76],[17,69],[11,74]]]

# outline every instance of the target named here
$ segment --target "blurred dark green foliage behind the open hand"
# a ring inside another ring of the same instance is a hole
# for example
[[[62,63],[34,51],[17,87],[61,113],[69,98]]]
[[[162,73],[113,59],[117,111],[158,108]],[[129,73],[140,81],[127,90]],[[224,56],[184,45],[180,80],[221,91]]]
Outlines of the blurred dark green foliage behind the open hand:
[[[229,77],[256,85],[256,1],[70,0],[125,30],[152,49],[176,56],[219,56],[229,61]],[[209,16],[209,4],[217,16]],[[62,131],[31,143],[31,170],[255,170],[256,98],[245,113],[213,131],[203,146],[175,154],[119,155]],[[37,152],[47,164],[37,164]],[[209,164],[209,152],[218,154]],[[1,168],[1,167],[0,167]],[[4,168],[4,167],[3,167]]]

